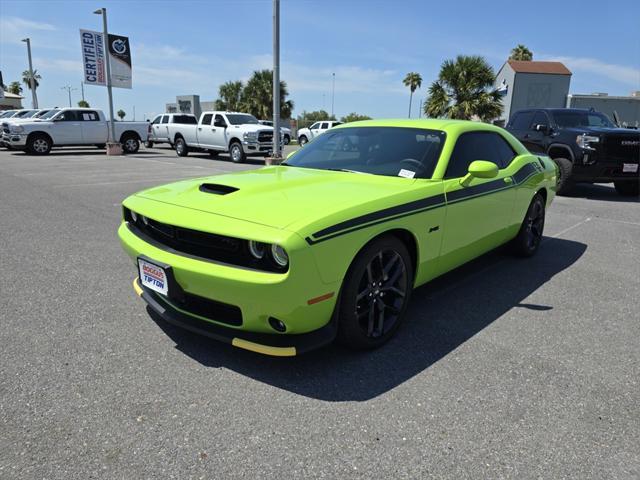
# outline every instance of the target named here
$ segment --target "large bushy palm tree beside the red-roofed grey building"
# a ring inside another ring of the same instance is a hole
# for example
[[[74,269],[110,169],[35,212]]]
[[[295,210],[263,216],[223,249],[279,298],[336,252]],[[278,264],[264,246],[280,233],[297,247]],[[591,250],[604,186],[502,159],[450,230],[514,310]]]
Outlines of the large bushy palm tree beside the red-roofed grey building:
[[[500,94],[493,90],[495,75],[480,56],[458,55],[445,60],[438,80],[429,87],[424,113],[429,117],[490,121],[502,112]]]

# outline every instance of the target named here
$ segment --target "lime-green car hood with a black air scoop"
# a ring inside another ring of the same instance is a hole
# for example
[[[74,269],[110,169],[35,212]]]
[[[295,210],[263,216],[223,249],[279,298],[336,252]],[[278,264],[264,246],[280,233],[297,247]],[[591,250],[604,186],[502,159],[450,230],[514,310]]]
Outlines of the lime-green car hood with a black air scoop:
[[[406,193],[415,182],[299,167],[266,167],[185,180],[144,190],[138,197],[286,229],[381,198]],[[362,208],[359,208],[362,210]]]

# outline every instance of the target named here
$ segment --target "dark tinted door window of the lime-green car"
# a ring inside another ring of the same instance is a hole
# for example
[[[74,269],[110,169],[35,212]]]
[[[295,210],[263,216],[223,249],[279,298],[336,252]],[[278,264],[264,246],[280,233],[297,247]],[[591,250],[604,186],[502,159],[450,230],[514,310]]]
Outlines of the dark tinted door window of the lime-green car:
[[[445,178],[464,177],[475,160],[487,160],[502,169],[511,163],[514,156],[511,146],[497,133],[465,133],[456,142]]]

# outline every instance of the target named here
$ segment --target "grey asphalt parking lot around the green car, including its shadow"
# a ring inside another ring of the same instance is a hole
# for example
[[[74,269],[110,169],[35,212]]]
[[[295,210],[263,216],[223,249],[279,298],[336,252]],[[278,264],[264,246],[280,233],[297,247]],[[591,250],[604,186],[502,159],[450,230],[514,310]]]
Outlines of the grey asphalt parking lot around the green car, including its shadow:
[[[382,349],[278,359],[152,319],[116,236],[127,195],[260,164],[0,151],[1,478],[640,477],[637,201],[582,186]]]

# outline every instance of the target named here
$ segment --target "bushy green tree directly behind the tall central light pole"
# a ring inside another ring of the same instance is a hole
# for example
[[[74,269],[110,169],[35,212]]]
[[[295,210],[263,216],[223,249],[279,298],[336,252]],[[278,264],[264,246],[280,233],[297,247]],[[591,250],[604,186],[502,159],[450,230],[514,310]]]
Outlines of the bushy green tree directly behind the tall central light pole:
[[[280,81],[280,116],[291,118],[293,102],[287,84]],[[242,90],[240,106],[243,111],[261,119],[273,117],[273,73],[271,70],[256,70]]]

